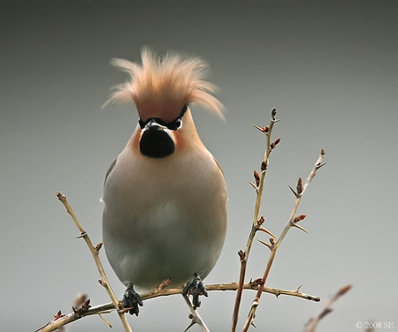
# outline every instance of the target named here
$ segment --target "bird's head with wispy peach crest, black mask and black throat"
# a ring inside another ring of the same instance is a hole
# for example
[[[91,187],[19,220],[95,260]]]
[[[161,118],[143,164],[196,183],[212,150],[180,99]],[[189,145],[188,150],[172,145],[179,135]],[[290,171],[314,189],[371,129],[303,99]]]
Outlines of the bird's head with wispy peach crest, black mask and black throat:
[[[212,109],[223,117],[223,105],[213,96],[216,87],[204,80],[209,65],[199,57],[174,53],[157,57],[144,48],[142,64],[119,58],[111,64],[130,78],[114,87],[108,102],[135,103],[140,117],[136,143],[142,155],[163,158],[174,153],[177,143],[183,147],[189,138],[199,140],[189,104]]]

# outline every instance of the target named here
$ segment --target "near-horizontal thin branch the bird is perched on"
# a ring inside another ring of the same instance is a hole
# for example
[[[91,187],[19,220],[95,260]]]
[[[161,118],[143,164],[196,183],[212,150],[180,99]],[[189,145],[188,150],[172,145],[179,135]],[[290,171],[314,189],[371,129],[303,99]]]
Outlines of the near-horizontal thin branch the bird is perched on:
[[[260,279],[261,280],[261,279]],[[217,284],[210,284],[206,285],[206,290],[212,291],[212,290],[237,290],[238,289],[238,283],[217,283]],[[258,290],[259,288],[259,279],[251,282],[251,283],[245,283],[243,284],[243,289],[244,290]],[[270,293],[275,295],[276,297],[279,297],[279,295],[287,295],[287,296],[292,296],[296,298],[303,298],[307,299],[309,301],[314,301],[314,302],[319,302],[320,298],[302,293],[299,290],[279,290],[277,288],[270,288],[270,287],[264,287],[264,292]],[[165,288],[161,290],[153,290],[147,294],[142,294],[141,298],[142,301],[148,300],[150,298],[158,298],[158,297],[165,297],[165,296],[171,296],[171,295],[180,295],[182,292],[182,288]],[[39,329],[38,331],[40,332],[50,332],[54,331],[57,328],[60,328],[72,321],[77,321],[80,318],[90,316],[93,314],[99,314],[99,313],[110,313],[112,310],[115,309],[115,306],[113,303],[105,303],[103,305],[99,306],[92,306],[90,307],[87,311],[84,312],[73,312],[69,313],[66,315],[58,315],[56,319],[53,321],[50,321],[48,325],[46,325],[44,328]]]

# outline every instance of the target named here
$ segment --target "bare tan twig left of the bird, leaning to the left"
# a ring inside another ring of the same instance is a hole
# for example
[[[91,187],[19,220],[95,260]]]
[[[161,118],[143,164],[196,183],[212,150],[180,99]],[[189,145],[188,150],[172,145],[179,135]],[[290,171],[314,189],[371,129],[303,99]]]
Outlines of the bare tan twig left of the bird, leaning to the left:
[[[99,249],[101,248],[102,244],[94,247],[90,238],[88,237],[87,232],[85,230],[83,230],[83,227],[81,226],[79,220],[77,219],[76,215],[74,214],[72,207],[69,205],[68,201],[66,200],[66,196],[63,195],[61,192],[57,192],[57,199],[60,200],[64,204],[64,206],[66,207],[66,211],[68,212],[69,215],[71,215],[73,222],[76,223],[76,226],[80,230],[79,238],[84,238],[84,240],[86,241],[86,244],[88,245],[88,249],[90,250],[90,253],[93,255],[93,258],[96,261],[96,268],[98,268],[98,272],[101,275],[101,280],[99,282],[105,288],[105,290],[108,292],[108,295],[111,298],[113,306],[119,309],[118,298],[116,298],[115,293],[111,289],[111,284],[108,282],[108,278],[106,277],[105,271],[103,270],[103,264],[101,263],[101,260],[98,255]],[[118,310],[118,314],[119,314],[120,321],[122,322],[123,327],[125,328],[126,332],[132,332],[132,328],[128,324],[125,314],[123,312],[120,312],[119,310]]]

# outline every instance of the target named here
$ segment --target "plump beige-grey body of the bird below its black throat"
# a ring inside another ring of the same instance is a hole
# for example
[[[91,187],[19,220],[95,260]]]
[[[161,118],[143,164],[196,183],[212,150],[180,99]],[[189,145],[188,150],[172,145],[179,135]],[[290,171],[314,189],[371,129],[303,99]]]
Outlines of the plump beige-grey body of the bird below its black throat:
[[[107,177],[103,241],[123,283],[206,276],[226,235],[226,185],[209,152],[149,158],[126,148]]]

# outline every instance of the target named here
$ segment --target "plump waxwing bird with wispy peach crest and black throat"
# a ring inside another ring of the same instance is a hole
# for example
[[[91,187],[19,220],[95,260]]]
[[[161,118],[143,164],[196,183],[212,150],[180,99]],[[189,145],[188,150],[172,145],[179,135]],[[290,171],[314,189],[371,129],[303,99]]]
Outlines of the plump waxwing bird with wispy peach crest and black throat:
[[[200,57],[145,47],[142,64],[113,58],[128,74],[105,104],[133,102],[138,124],[111,163],[103,185],[103,245],[111,268],[127,286],[123,304],[138,316],[137,293],[165,280],[207,295],[202,280],[221,253],[227,225],[226,181],[204,147],[190,106],[224,118]]]

